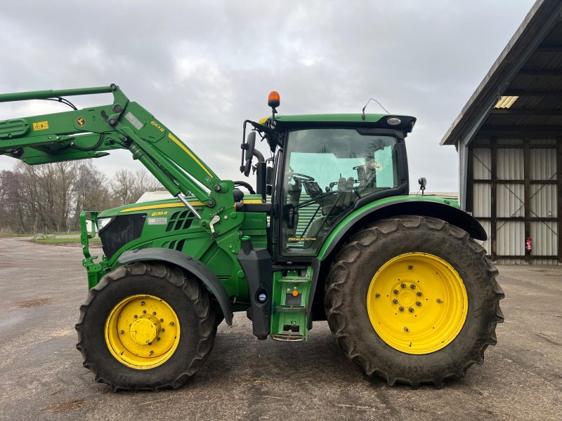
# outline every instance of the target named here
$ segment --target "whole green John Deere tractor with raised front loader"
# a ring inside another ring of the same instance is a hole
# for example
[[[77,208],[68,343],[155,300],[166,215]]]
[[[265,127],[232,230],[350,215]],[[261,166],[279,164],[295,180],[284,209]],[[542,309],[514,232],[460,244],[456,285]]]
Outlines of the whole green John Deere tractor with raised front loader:
[[[64,98],[98,93],[112,104]],[[504,294],[475,241],[483,227],[455,201],[408,194],[414,117],[280,116],[273,92],[271,116],[244,121],[240,171],[255,171],[254,191],[219,178],[116,85],[0,95],[34,99],[73,109],[0,121],[0,154],[33,165],[127,149],[174,196],[80,216],[90,292],[77,348],[112,389],[185,384],[234,312],[259,340],[306,341],[327,320],[367,375],[414,388],[463,377],[497,342]]]

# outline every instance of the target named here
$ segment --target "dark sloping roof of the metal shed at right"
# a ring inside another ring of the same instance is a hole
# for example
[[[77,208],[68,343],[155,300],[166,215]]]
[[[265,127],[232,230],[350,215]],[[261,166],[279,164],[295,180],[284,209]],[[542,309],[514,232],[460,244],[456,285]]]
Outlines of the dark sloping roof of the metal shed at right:
[[[562,2],[537,0],[441,145],[469,143],[478,131],[562,126]],[[518,96],[495,109],[501,96]]]

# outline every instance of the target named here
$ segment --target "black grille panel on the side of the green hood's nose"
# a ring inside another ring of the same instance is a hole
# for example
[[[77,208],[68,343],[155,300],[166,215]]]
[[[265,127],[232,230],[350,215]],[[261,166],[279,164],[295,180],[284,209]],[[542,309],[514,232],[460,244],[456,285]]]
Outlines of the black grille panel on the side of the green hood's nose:
[[[145,219],[145,213],[119,215],[113,218],[113,220],[99,232],[105,256],[111,259],[119,248],[122,248],[126,243],[138,239],[141,234],[143,234]]]

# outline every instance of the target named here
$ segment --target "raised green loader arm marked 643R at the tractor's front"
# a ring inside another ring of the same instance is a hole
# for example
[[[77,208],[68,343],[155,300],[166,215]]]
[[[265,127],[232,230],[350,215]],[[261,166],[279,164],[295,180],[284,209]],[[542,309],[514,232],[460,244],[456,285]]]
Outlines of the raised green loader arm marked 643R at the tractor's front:
[[[0,95],[0,102],[52,99],[68,103],[63,97],[100,93],[112,93],[113,103],[0,121],[0,154],[34,165],[98,158],[112,149],[128,149],[174,196],[183,199],[182,194],[192,194],[211,208],[230,205],[212,196],[232,191],[231,182],[221,181],[174,133],[114,84],[6,93]],[[222,196],[229,196],[234,205],[232,194]]]

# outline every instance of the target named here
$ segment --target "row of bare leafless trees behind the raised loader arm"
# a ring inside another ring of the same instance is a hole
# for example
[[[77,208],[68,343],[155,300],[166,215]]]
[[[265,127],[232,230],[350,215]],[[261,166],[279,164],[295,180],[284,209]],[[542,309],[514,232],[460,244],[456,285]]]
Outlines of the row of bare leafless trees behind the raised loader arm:
[[[29,166],[0,172],[0,228],[18,232],[79,229],[83,210],[133,203],[162,189],[147,171],[117,171],[110,180],[91,161]]]

